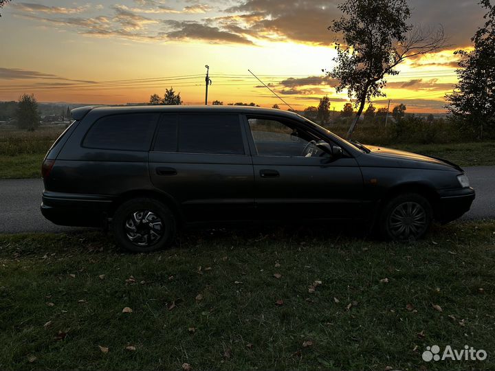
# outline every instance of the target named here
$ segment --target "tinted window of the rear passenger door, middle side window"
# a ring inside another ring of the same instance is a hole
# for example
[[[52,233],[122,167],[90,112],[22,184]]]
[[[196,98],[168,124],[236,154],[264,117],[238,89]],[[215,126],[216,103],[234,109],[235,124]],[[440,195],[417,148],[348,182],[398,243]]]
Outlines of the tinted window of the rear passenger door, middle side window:
[[[162,120],[155,142],[161,152],[244,155],[239,115],[191,114]]]

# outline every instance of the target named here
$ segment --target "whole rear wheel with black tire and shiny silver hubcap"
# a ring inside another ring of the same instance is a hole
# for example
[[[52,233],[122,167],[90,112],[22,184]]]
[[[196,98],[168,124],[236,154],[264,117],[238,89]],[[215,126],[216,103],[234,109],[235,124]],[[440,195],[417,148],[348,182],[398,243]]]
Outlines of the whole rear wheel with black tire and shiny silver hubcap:
[[[131,199],[115,210],[111,229],[117,244],[136,253],[164,249],[173,241],[176,222],[173,212],[155,199]]]

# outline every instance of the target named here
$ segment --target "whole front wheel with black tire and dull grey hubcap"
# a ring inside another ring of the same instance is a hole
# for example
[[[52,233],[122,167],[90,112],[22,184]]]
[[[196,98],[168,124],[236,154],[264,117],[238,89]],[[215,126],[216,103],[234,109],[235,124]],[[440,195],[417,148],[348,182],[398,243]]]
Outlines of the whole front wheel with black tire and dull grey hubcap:
[[[432,206],[415,193],[390,199],[380,215],[380,234],[387,240],[410,241],[423,237],[432,223]]]

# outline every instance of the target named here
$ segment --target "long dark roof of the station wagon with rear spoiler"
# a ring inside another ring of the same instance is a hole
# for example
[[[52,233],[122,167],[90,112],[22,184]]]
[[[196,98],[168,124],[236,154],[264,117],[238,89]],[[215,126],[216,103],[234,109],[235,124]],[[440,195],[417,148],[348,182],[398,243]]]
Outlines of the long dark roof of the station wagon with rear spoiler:
[[[100,115],[111,115],[115,113],[137,113],[137,112],[181,112],[181,113],[242,113],[278,115],[285,117],[298,117],[297,113],[283,111],[281,109],[267,109],[254,106],[85,106],[71,111],[74,120],[82,120],[90,111],[98,112]]]

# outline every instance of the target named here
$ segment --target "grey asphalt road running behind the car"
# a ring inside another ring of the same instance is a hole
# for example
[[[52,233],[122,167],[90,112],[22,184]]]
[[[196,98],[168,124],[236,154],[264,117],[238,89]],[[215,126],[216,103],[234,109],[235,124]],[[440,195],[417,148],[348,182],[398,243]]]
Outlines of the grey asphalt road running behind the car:
[[[495,166],[465,168],[476,200],[464,219],[495,218]],[[0,180],[0,233],[63,232],[71,227],[50,223],[41,215],[41,179]]]

